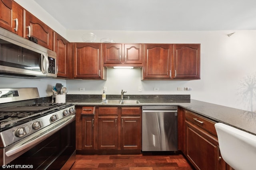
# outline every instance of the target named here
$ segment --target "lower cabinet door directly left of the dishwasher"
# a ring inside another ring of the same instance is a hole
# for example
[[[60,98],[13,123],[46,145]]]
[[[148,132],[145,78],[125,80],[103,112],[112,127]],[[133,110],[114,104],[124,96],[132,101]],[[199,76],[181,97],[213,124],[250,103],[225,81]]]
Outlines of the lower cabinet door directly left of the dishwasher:
[[[141,150],[140,117],[121,117],[121,149]]]

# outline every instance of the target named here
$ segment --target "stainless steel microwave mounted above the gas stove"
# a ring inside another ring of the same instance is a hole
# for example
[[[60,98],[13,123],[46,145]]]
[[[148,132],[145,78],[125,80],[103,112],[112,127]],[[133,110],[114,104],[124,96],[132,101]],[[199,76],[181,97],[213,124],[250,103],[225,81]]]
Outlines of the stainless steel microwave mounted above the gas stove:
[[[56,78],[56,56],[54,51],[0,28],[0,76]]]

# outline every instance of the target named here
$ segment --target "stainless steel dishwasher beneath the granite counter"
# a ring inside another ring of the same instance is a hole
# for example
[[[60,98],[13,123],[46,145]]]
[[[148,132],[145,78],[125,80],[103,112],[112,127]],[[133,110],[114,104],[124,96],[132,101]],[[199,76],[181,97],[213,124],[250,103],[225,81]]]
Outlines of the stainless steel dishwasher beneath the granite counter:
[[[178,107],[142,106],[142,151],[178,150]]]

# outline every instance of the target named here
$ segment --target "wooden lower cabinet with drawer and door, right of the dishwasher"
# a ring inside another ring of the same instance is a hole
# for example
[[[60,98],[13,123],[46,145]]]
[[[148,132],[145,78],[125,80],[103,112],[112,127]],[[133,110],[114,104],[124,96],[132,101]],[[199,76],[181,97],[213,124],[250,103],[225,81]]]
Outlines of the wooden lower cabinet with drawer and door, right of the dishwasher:
[[[185,155],[197,170],[225,170],[215,122],[185,111]]]

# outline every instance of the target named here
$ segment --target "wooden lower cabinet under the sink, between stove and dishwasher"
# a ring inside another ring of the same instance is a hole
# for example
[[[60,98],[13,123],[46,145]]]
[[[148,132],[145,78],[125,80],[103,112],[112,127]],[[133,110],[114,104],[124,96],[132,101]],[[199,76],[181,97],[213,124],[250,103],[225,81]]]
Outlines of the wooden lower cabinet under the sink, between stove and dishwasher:
[[[76,150],[85,154],[140,153],[141,107],[77,106]]]

